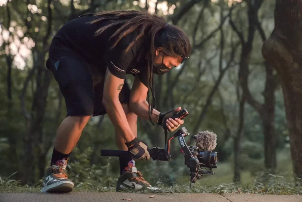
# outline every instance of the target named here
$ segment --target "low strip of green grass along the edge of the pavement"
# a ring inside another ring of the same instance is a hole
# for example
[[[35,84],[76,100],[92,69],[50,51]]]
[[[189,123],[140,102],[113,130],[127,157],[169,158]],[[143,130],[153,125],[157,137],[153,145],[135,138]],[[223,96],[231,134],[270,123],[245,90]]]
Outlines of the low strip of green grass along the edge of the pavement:
[[[281,176],[271,176],[271,179],[266,183],[254,180],[252,182],[241,183],[236,185],[234,183],[221,184],[206,184],[205,181],[196,183],[190,189],[189,184],[176,184],[175,186],[167,187],[164,184],[158,183],[159,187],[164,188],[170,193],[258,193],[258,194],[278,194],[278,195],[301,195],[302,185],[295,182],[282,181]],[[0,193],[1,192],[40,192],[41,186],[21,186],[15,180],[4,181],[0,178]],[[103,186],[99,183],[84,182],[78,183],[73,191],[115,191],[115,185]],[[144,192],[144,191],[142,191]],[[146,193],[146,191],[144,192]]]

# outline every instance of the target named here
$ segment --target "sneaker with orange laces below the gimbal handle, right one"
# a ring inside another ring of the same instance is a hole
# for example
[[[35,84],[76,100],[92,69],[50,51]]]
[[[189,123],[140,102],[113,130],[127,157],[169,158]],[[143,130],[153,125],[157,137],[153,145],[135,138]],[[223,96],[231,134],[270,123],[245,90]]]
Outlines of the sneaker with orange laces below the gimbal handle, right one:
[[[116,191],[120,190],[162,190],[157,187],[153,187],[149,182],[145,181],[143,175],[136,170],[135,167],[131,168],[131,171],[125,171],[117,180]]]

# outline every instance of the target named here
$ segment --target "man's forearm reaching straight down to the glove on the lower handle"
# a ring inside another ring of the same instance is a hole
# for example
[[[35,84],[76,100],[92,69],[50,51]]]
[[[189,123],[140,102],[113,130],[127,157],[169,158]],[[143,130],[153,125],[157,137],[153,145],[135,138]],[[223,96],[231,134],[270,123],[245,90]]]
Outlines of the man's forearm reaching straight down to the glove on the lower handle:
[[[106,108],[109,119],[116,128],[117,132],[122,135],[126,142],[130,142],[135,138],[125,115],[124,109],[120,101],[104,99],[103,105]]]

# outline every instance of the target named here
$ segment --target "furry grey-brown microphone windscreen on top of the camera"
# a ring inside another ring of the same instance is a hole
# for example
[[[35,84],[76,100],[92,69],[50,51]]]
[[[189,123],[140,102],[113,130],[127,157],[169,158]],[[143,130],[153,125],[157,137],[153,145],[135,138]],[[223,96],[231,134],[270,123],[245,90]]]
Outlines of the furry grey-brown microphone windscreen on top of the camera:
[[[196,146],[201,151],[212,151],[215,149],[217,143],[217,135],[214,132],[202,131],[195,135]]]

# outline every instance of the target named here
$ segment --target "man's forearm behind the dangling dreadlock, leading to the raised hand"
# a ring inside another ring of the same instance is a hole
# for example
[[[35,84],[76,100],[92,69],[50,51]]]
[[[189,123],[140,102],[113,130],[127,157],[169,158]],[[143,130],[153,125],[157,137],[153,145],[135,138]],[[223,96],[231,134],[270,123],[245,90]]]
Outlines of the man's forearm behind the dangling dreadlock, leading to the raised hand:
[[[149,104],[147,101],[138,101],[138,102],[130,102],[129,107],[131,112],[136,114],[142,119],[150,120],[149,119]],[[158,120],[160,112],[156,109],[153,109],[151,119],[153,123],[156,123]]]

